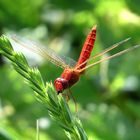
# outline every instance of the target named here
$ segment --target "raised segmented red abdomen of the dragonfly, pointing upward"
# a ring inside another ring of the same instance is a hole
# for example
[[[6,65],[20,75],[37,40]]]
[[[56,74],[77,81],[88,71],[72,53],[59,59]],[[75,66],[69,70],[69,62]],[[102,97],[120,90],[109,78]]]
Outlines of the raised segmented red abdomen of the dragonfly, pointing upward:
[[[91,32],[89,33],[89,35],[86,38],[86,41],[83,45],[83,48],[82,48],[82,51],[80,54],[80,57],[76,64],[77,70],[85,68],[87,63],[84,63],[84,62],[87,61],[90,57],[90,54],[91,54],[93,46],[94,46],[95,39],[96,39],[96,26],[94,26],[92,28]]]

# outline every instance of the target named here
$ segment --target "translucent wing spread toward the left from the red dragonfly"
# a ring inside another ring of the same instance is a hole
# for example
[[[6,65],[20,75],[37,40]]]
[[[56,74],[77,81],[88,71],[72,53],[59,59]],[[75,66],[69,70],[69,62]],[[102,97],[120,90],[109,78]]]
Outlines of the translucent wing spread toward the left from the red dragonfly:
[[[59,56],[54,50],[43,46],[39,42],[34,42],[29,39],[25,39],[19,36],[9,36],[10,41],[18,43],[21,47],[24,47],[34,53],[46,58],[51,63],[65,69],[72,68],[75,66],[76,62],[71,58],[65,56]]]

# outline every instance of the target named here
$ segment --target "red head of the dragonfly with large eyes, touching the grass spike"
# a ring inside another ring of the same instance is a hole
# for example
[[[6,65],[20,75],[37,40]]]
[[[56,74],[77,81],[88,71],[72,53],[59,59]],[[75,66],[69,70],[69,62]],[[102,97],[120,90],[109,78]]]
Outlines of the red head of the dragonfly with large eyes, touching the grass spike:
[[[63,78],[57,78],[54,81],[54,86],[58,94],[62,93],[64,89],[68,88],[68,81]]]

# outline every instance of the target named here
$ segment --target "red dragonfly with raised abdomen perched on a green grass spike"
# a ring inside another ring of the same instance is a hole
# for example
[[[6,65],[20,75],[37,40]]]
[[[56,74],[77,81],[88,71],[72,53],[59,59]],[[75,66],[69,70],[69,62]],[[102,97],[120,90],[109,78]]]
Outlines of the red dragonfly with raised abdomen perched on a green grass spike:
[[[105,57],[104,59],[98,60],[97,62],[94,62],[92,64],[87,65],[87,62],[89,62],[89,61],[91,61],[99,56],[102,56],[103,54],[113,50],[114,48],[117,48],[121,44],[127,42],[130,38],[127,38],[121,42],[118,42],[118,43],[112,45],[111,47],[105,49],[104,51],[89,58],[91,55],[93,46],[94,46],[94,42],[96,40],[96,26],[94,26],[91,29],[90,33],[88,34],[88,36],[85,40],[80,57],[79,57],[77,62],[74,62],[70,58],[60,57],[59,55],[57,55],[54,51],[52,51],[49,48],[37,47],[38,44],[36,44],[34,42],[27,41],[24,39],[22,39],[22,40],[17,39],[15,37],[12,37],[11,39],[13,41],[19,43],[21,46],[23,46],[31,51],[34,51],[35,53],[47,58],[47,60],[49,60],[50,62],[52,62],[55,65],[64,69],[61,76],[54,81],[54,86],[55,86],[55,89],[56,89],[58,94],[62,93],[66,89],[69,89],[75,83],[77,83],[79,81],[80,76],[85,72],[85,70],[87,70],[87,69],[89,69],[89,68],[91,68],[91,67],[93,67],[93,66],[95,66],[95,65],[97,65],[105,60],[109,60],[111,58],[120,56],[120,55],[122,55],[126,52],[129,52],[129,51],[140,46],[140,45],[133,46],[131,48],[120,51],[112,56]],[[71,62],[70,65],[67,63],[67,60],[69,62]]]

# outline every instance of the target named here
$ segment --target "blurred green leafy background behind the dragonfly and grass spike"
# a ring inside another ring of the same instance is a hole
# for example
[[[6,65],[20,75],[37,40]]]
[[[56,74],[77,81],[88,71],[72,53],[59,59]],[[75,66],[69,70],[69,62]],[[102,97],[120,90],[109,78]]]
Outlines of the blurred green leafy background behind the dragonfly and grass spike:
[[[97,24],[92,55],[132,37],[111,55],[140,44],[139,6],[139,0],[1,0],[0,34],[39,40],[77,60]],[[46,61],[29,61],[39,67],[44,81],[54,81],[62,72]],[[140,140],[140,49],[93,67],[71,90],[89,140]],[[75,113],[73,101],[69,106]],[[41,140],[66,139],[23,78],[0,56],[0,140],[34,140],[37,119]]]

